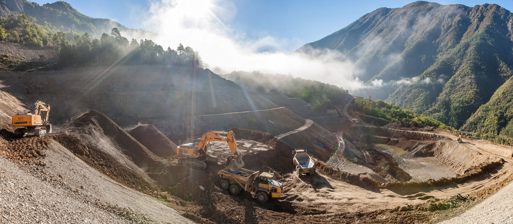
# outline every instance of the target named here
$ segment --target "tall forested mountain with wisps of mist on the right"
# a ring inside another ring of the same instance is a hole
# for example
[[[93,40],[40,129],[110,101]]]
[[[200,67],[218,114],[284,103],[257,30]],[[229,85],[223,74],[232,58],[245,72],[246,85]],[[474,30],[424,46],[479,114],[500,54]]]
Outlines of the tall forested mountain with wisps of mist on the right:
[[[472,116],[466,130],[494,129],[485,128],[491,121],[478,122],[478,117],[508,114],[508,108],[494,105],[510,102],[502,97],[510,87],[501,86],[513,76],[513,18],[495,4],[415,2],[380,8],[298,51],[312,49],[337,50],[356,63],[369,87],[357,95],[383,99],[457,128]],[[499,119],[500,126],[510,117]]]

